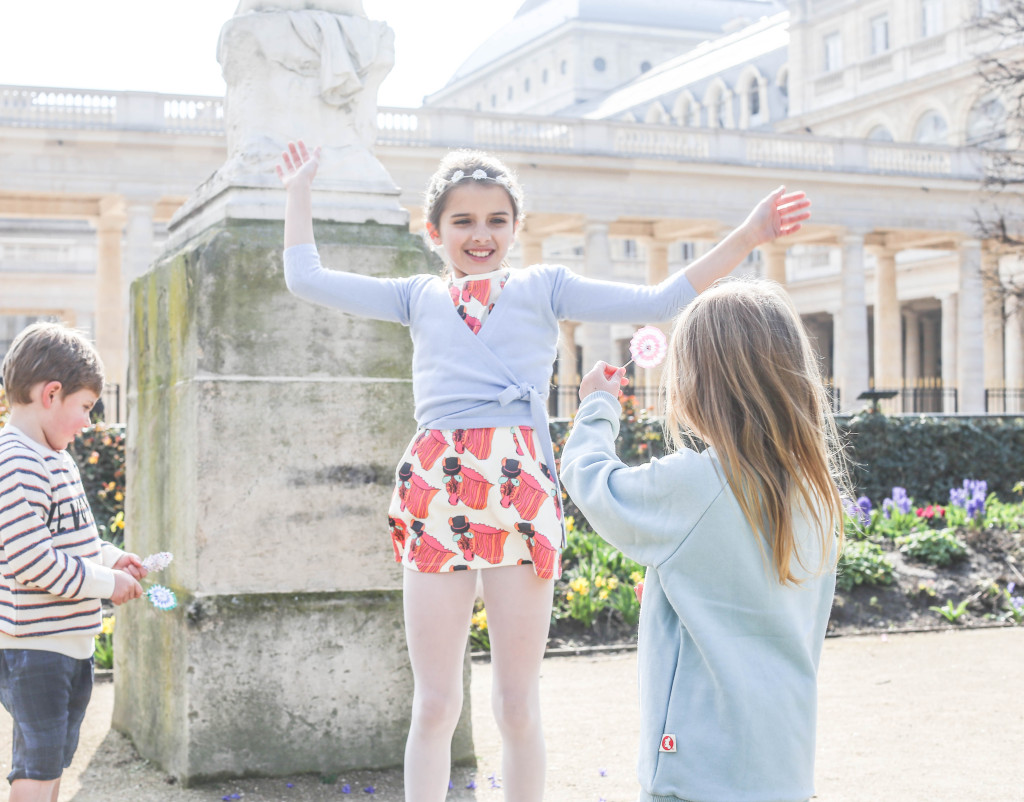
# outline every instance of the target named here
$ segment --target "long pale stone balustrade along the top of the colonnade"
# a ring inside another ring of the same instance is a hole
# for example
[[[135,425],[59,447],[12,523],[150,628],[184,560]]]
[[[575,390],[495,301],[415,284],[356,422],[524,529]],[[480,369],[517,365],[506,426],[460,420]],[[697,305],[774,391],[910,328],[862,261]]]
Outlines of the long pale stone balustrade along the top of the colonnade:
[[[445,147],[771,165],[981,180],[976,151],[760,131],[609,120],[487,115],[449,109],[379,110],[380,146]],[[0,127],[224,134],[219,97],[0,86]]]

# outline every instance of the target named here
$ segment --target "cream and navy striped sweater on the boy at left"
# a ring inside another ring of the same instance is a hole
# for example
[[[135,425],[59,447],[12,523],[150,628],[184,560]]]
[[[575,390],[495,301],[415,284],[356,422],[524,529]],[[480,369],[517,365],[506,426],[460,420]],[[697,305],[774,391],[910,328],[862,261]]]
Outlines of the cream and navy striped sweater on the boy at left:
[[[71,455],[0,429],[0,648],[90,657],[123,553],[99,539]]]

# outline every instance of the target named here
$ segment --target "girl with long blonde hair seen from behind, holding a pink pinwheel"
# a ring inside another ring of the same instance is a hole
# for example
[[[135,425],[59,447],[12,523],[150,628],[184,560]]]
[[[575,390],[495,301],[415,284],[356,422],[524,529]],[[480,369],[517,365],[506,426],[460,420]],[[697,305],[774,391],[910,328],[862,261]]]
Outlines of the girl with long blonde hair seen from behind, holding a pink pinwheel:
[[[562,479],[647,566],[640,799],[808,799],[846,479],[800,318],[767,281],[687,306],[665,371],[676,451],[647,465],[615,456],[623,370],[606,368],[581,384]]]

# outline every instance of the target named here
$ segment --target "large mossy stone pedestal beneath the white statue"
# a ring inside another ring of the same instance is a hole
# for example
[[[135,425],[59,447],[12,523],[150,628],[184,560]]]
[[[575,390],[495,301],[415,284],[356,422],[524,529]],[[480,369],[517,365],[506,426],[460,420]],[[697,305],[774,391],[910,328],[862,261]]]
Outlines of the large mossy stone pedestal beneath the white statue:
[[[328,265],[430,268],[403,226],[316,235]],[[281,243],[280,222],[224,220],[132,287],[128,542],[174,553],[153,579],[180,604],[119,608],[114,725],[184,784],[396,766],[409,728],[385,515],[412,345],[292,296]]]

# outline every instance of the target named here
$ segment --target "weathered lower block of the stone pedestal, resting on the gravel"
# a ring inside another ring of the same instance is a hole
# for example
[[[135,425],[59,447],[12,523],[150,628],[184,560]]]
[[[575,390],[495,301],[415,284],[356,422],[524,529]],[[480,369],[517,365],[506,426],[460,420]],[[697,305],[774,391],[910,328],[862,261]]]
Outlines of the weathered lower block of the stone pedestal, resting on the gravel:
[[[400,593],[132,604],[118,628],[136,642],[118,643],[114,726],[183,784],[400,765],[412,703]]]

